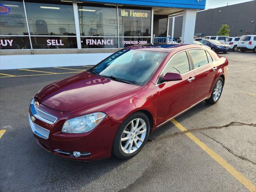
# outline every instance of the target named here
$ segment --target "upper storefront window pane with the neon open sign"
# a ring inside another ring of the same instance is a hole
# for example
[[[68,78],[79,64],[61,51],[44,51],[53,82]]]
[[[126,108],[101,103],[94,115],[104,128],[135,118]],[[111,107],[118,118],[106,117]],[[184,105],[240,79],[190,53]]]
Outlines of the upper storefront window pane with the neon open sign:
[[[0,1],[0,35],[28,35],[22,0]]]

